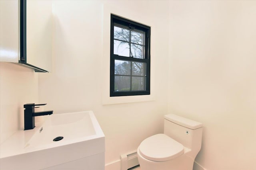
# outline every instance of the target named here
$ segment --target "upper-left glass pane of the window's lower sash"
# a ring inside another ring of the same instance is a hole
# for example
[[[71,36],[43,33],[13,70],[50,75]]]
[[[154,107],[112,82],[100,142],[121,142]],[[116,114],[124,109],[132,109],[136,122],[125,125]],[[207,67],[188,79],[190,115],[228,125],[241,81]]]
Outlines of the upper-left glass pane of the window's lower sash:
[[[131,62],[115,60],[115,74],[131,75]]]

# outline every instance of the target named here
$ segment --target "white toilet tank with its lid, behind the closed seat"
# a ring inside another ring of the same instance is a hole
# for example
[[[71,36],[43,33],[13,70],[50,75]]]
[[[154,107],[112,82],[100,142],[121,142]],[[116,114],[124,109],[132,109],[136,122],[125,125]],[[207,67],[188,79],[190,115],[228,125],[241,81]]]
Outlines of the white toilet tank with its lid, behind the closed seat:
[[[164,134],[197,154],[202,144],[202,123],[178,115],[164,115]]]

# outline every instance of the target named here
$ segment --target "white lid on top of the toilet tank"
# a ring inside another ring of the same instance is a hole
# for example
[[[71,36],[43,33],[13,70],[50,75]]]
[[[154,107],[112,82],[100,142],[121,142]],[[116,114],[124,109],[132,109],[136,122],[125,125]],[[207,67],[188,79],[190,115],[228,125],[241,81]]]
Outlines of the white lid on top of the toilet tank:
[[[193,121],[185,117],[181,117],[174,114],[164,115],[164,119],[167,119],[168,121],[171,121],[173,123],[176,123],[178,125],[181,125],[193,130],[203,127],[203,124],[198,121]]]

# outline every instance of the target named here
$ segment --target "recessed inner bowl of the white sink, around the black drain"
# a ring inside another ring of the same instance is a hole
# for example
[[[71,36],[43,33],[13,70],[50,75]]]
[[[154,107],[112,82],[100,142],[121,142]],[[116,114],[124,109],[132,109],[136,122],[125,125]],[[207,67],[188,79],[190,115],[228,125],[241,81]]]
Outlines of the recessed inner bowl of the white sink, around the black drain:
[[[42,128],[28,141],[25,148],[56,147],[92,138],[92,135],[96,135],[96,131],[91,116],[89,112],[50,115]],[[63,137],[63,139],[53,141],[56,137]]]

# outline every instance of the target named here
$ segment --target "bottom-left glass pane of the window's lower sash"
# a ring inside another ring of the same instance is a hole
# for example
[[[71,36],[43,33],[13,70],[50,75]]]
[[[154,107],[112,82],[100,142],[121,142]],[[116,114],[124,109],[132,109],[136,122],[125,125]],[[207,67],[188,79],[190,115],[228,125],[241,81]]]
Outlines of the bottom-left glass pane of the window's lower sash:
[[[130,91],[130,76],[115,76],[115,92]]]

